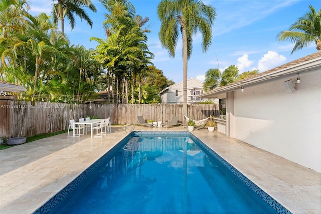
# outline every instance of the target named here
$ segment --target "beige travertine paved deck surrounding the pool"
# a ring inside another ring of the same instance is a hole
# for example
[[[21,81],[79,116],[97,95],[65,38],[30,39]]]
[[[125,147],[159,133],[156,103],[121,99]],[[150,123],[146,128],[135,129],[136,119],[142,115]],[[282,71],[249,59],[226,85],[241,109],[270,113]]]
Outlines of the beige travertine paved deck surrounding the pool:
[[[193,134],[291,212],[321,213],[321,173],[217,131],[194,129]],[[116,126],[102,138],[67,138],[65,133],[1,150],[0,212],[32,213],[125,136]]]

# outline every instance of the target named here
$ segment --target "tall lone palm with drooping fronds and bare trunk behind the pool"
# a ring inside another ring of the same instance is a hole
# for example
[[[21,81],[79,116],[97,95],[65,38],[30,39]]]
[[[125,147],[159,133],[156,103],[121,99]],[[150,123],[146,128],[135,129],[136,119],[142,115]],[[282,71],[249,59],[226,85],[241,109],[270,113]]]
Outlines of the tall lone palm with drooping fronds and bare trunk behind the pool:
[[[159,40],[173,58],[179,31],[183,37],[183,113],[188,115],[187,61],[192,55],[193,36],[198,32],[202,34],[202,50],[206,52],[211,45],[215,8],[196,0],[162,0],[157,6],[157,16],[161,21]]]

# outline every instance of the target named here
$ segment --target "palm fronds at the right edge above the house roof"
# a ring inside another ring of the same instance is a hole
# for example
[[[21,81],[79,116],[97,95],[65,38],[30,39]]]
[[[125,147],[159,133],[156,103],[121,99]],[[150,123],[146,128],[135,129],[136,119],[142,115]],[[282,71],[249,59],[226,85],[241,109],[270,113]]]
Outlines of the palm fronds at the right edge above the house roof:
[[[321,51],[321,9],[316,13],[311,5],[309,8],[310,11],[292,24],[288,31],[282,31],[277,35],[280,42],[289,40],[295,43],[291,54],[311,43],[315,43],[316,50]]]

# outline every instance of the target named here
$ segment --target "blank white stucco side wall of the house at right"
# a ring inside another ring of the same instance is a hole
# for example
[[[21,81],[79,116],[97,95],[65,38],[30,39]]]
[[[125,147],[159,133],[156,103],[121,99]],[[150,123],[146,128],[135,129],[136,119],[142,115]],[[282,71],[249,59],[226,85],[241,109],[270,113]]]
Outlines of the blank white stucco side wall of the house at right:
[[[293,93],[288,79],[235,91],[231,137],[321,172],[321,71],[300,78]]]

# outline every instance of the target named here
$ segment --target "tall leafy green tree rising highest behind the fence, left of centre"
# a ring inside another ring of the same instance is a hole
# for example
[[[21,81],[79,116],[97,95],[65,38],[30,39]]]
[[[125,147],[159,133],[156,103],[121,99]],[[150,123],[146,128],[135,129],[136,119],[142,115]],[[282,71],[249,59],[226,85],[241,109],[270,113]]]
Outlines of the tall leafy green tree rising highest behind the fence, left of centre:
[[[116,100],[128,102],[128,86],[131,84],[132,102],[134,98],[135,76],[150,64],[153,54],[147,48],[147,30],[142,30],[145,21],[135,18],[134,8],[125,0],[100,1],[109,12],[103,27],[107,40],[91,38],[97,46],[96,58],[112,71],[116,80]],[[136,22],[135,22],[136,21]],[[121,87],[121,88],[120,88]],[[119,89],[121,96],[119,97]]]

